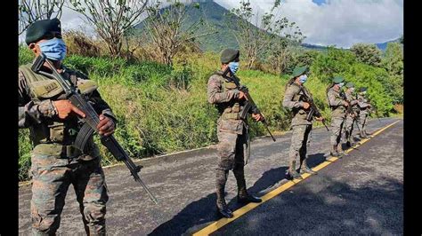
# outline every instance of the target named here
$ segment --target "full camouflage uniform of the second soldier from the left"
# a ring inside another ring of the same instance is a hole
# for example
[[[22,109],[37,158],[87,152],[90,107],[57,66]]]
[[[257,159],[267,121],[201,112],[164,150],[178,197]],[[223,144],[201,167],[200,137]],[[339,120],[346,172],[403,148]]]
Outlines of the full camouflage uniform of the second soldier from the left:
[[[240,101],[239,90],[235,83],[228,83],[223,78],[223,72],[211,75],[207,84],[207,99],[215,104],[220,114],[217,121],[218,163],[215,169],[215,185],[217,207],[226,208],[224,187],[229,170],[232,169],[238,185],[238,196],[248,195],[244,175],[244,157],[248,155],[249,138],[248,123],[239,118],[244,108],[244,101]]]

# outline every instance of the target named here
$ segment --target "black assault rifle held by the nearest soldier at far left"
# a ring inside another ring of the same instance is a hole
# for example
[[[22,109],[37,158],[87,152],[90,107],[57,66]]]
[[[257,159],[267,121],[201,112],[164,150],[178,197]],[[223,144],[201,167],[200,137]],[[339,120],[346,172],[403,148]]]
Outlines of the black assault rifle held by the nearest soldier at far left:
[[[43,67],[45,63],[53,71],[52,74],[41,70],[41,67]],[[46,77],[56,80],[58,83],[60,83],[61,88],[66,94],[66,98],[69,99],[73,106],[77,106],[77,108],[84,112],[85,118],[79,117],[79,122],[83,123],[83,126],[81,130],[79,130],[74,144],[79,150],[84,151],[88,139],[93,135],[93,132],[98,131],[97,125],[100,122],[99,115],[95,112],[93,106],[91,106],[91,104],[87,102],[85,98],[81,96],[81,94],[78,93],[77,88],[60,75],[60,73],[53,66],[53,63],[45,57],[44,53],[41,53],[41,55],[37,57],[31,69],[39,75],[45,75]],[[150,190],[148,189],[147,185],[143,184],[141,177],[139,177],[138,175],[138,172],[141,171],[142,166],[137,166],[134,164],[134,161],[129,158],[123,147],[120,146],[120,144],[118,143],[116,138],[114,138],[113,135],[100,136],[100,138],[101,144],[103,146],[106,146],[110,153],[118,161],[125,162],[126,167],[130,170],[132,176],[134,177],[134,180],[140,183],[150,196],[150,199],[154,201],[154,203],[158,204],[157,199],[154,197],[154,195],[152,195],[152,193],[150,193]]]

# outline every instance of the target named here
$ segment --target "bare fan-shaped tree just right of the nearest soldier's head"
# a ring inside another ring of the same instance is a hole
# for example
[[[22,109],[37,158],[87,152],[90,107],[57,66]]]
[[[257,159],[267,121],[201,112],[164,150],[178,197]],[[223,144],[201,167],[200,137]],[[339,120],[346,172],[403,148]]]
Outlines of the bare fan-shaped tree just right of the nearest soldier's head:
[[[148,0],[69,0],[69,8],[84,15],[97,35],[118,57],[126,33],[141,22]]]

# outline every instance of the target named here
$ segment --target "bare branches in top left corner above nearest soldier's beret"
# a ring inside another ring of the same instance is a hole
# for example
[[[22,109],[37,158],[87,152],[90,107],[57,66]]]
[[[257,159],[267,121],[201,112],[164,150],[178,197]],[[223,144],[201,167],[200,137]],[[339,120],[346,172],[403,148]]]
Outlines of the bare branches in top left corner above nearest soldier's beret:
[[[64,0],[20,0],[19,1],[19,35],[37,20],[61,18]]]

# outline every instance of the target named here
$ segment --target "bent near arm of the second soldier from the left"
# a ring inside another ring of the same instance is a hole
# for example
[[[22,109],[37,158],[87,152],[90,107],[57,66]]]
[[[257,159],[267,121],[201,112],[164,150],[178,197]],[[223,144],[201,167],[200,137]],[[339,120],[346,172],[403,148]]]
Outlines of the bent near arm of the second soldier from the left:
[[[231,99],[239,98],[239,90],[222,91],[222,83],[217,75],[212,75],[208,80],[207,97],[211,104],[229,102]]]

